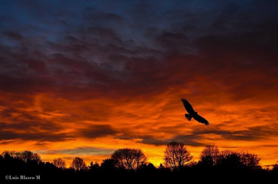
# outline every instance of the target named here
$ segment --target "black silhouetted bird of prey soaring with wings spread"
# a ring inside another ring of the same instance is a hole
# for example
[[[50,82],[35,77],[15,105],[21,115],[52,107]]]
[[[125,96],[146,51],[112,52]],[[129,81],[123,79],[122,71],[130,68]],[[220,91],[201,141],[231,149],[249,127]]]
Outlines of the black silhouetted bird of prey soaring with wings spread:
[[[189,114],[184,114],[185,118],[188,119],[188,121],[190,121],[191,118],[194,118],[197,122],[200,122],[202,124],[205,124],[206,126],[209,126],[209,122],[202,116],[198,115],[198,113],[194,111],[193,107],[186,99],[181,98],[181,100],[182,100],[182,104],[183,104],[184,108],[189,113]]]

